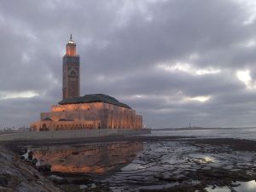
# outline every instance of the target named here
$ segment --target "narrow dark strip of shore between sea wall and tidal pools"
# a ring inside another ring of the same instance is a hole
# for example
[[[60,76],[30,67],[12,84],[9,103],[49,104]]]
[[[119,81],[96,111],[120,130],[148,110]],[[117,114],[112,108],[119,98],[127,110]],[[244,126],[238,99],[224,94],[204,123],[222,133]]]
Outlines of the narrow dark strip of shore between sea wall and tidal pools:
[[[40,140],[14,140],[0,142],[5,146],[12,145],[68,145],[68,144],[92,144],[92,143],[116,143],[116,142],[164,142],[179,141],[187,143],[201,143],[213,146],[229,145],[230,148],[243,151],[256,151],[256,141],[241,138],[217,138],[217,137],[180,137],[180,136],[108,136],[89,138],[65,138],[65,139],[40,139]]]

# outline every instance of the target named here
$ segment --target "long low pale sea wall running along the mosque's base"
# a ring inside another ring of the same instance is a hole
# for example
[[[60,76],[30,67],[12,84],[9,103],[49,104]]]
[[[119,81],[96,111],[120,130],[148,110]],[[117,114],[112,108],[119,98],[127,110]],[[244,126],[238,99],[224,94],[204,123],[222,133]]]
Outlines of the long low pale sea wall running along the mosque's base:
[[[101,129],[73,131],[24,131],[20,133],[0,134],[0,142],[12,140],[65,139],[87,137],[109,137],[147,134],[150,130]]]

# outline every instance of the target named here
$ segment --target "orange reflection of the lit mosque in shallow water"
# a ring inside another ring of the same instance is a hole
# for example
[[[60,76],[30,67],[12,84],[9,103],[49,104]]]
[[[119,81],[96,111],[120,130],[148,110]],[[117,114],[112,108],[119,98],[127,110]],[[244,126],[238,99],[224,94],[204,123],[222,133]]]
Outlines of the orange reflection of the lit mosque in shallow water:
[[[143,143],[96,143],[30,150],[40,165],[51,165],[52,172],[104,174],[129,164],[143,151]]]

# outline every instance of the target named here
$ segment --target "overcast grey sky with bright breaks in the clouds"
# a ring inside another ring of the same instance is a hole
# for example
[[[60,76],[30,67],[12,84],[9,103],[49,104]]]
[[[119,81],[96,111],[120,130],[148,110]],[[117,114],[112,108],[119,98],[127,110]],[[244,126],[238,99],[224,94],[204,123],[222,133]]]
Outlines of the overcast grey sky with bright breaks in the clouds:
[[[254,0],[0,2],[0,129],[61,101],[70,34],[81,95],[125,102],[153,128],[256,125]]]

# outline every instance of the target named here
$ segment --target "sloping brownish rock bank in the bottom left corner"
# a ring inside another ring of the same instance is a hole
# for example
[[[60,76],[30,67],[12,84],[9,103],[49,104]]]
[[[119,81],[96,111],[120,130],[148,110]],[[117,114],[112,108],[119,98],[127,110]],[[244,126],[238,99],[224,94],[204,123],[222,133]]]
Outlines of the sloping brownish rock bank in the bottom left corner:
[[[61,192],[34,167],[20,156],[0,145],[0,191],[1,192]]]

